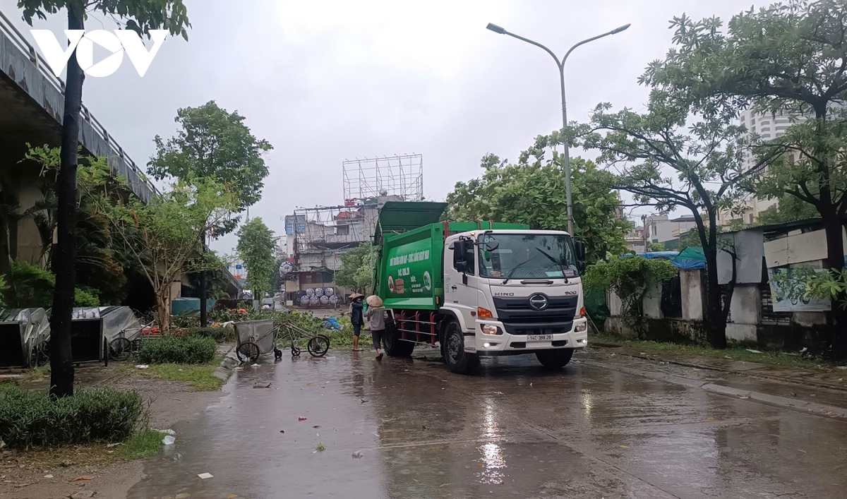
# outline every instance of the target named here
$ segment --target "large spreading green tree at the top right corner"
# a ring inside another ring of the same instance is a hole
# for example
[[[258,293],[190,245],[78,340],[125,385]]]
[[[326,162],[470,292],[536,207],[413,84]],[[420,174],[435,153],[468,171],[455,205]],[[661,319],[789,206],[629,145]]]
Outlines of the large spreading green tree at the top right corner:
[[[789,194],[811,204],[823,219],[826,265],[844,269],[842,226],[847,215],[844,162],[847,127],[847,4],[841,0],[789,0],[721,19],[673,19],[675,47],[650,65],[645,82],[661,86],[706,114],[734,115],[752,107],[808,119],[784,136],[754,147],[764,158],[749,188],[765,197]],[[834,305],[833,350],[847,356],[847,311]]]

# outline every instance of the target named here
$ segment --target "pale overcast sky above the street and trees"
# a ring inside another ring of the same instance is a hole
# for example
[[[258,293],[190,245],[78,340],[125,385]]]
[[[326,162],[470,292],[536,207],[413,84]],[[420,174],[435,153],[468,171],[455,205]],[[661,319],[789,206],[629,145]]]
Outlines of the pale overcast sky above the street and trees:
[[[214,99],[237,109],[274,146],[264,197],[250,214],[278,234],[294,208],[343,201],[346,158],[423,154],[424,195],[443,200],[456,182],[480,175],[484,153],[517,159],[535,136],[561,127],[552,58],[485,30],[489,22],[560,57],[632,23],[568,58],[568,119],[584,121],[601,102],[644,108],[636,79],[670,47],[674,15],[726,20],[750,8],[750,0],[185,3],[188,42],[169,37],[143,78],[128,58],[113,75],[86,78],[83,102],[137,164],[154,152],[153,136],[174,133],[177,108]],[[0,0],[0,10],[29,36],[16,4]],[[59,34],[66,22],[56,14],[34,27]],[[104,27],[113,29],[86,21],[86,29]],[[230,252],[235,241],[213,247]]]

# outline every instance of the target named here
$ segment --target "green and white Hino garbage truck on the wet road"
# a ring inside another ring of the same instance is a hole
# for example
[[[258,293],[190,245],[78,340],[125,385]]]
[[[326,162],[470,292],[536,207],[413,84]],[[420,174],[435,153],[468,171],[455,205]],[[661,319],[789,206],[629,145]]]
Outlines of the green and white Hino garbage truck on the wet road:
[[[440,221],[442,202],[386,202],[374,230],[385,352],[440,347],[454,373],[483,356],[534,354],[547,368],[588,344],[582,241],[562,230]]]

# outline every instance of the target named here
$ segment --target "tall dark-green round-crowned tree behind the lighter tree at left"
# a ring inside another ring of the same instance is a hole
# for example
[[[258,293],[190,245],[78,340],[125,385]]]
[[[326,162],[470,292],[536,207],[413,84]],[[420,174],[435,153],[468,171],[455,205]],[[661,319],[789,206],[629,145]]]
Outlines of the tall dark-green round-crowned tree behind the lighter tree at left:
[[[268,166],[265,152],[274,147],[258,140],[244,124],[244,116],[221,109],[214,101],[199,108],[182,108],[174,121],[180,124],[176,136],[163,141],[156,136],[156,155],[147,171],[153,178],[180,180],[208,177],[235,192],[238,212],[262,198]],[[216,229],[215,236],[235,230],[238,219],[230,219]]]

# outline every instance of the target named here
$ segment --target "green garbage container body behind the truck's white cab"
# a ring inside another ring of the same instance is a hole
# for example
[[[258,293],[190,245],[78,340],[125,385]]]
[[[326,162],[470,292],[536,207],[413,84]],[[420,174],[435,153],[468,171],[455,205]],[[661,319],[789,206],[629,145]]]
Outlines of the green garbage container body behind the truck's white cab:
[[[440,202],[387,202],[379,213],[376,291],[385,308],[438,310],[444,303],[444,240],[459,232],[527,230],[528,225],[495,222],[421,222],[440,218]],[[404,213],[410,213],[403,216]],[[405,225],[400,221],[405,220]],[[383,222],[386,222],[385,224]],[[446,233],[445,233],[446,231]]]

